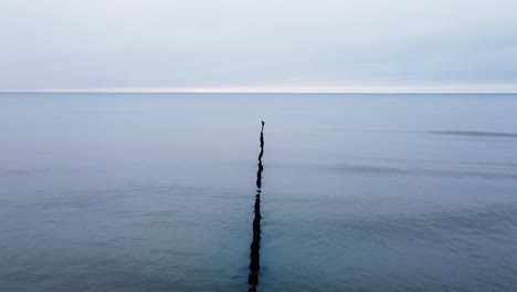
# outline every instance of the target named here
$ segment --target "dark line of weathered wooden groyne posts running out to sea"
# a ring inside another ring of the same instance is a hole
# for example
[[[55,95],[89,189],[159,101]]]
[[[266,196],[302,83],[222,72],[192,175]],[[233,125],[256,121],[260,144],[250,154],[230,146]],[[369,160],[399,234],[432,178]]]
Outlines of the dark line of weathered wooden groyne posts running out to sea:
[[[262,156],[264,155],[264,121],[262,121],[261,129],[261,153],[258,154],[258,170],[256,171],[256,195],[255,195],[255,218],[253,219],[253,241],[250,251],[250,275],[247,283],[250,284],[249,292],[256,291],[258,285],[258,270],[261,269],[261,188],[262,188]]]

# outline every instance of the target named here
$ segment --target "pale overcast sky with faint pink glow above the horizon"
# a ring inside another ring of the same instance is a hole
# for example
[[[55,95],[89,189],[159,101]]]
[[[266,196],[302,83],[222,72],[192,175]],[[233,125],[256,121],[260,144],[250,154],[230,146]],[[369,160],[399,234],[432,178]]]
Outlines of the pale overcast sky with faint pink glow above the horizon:
[[[0,0],[0,91],[517,92],[517,0]]]

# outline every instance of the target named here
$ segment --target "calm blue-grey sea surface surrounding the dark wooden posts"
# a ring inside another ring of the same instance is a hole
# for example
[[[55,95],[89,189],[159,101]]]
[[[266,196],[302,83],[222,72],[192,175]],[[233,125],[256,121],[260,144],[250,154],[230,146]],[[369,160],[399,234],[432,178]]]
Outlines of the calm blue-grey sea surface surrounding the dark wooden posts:
[[[517,95],[0,94],[0,291],[517,291]]]

